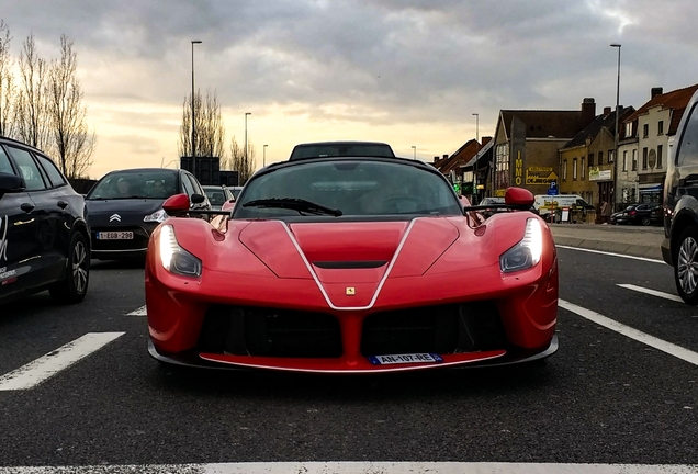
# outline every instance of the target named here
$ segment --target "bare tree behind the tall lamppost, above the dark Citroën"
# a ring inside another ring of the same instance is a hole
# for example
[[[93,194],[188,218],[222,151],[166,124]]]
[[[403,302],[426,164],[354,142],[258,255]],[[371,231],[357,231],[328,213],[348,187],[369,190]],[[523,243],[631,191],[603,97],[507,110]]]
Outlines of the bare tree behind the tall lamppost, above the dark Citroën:
[[[221,158],[221,169],[227,163],[225,157],[225,127],[221,115],[221,104],[216,91],[206,91],[203,98],[200,91],[194,94],[194,117],[196,127],[194,143],[196,145],[196,156]],[[179,156],[191,156],[191,94],[182,104],[182,126],[180,128]]]

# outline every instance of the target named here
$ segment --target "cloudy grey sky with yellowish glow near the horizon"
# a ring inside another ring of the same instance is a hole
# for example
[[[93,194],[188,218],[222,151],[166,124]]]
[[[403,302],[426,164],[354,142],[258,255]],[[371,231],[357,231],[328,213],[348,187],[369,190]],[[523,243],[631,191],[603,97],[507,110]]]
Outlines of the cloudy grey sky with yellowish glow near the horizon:
[[[698,82],[695,0],[0,0],[0,18],[40,55],[74,42],[91,177],[177,160],[182,102],[215,90],[226,143],[259,166],[296,143],[370,139],[430,160],[494,134],[500,109],[597,112],[642,105],[652,87]]]

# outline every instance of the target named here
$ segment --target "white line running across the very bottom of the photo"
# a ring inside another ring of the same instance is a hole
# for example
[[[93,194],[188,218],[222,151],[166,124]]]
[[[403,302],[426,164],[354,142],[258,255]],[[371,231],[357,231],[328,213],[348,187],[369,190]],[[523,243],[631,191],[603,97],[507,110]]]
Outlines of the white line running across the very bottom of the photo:
[[[688,474],[695,464],[554,464],[466,462],[250,462],[219,464],[94,465],[65,467],[0,467],[0,474]]]

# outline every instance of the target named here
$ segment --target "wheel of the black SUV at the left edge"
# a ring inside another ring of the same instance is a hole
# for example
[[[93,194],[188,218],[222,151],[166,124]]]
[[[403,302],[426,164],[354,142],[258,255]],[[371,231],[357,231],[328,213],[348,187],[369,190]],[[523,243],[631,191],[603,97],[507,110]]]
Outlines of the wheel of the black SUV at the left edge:
[[[90,282],[90,250],[85,236],[72,234],[68,250],[68,269],[65,280],[55,283],[48,292],[54,301],[63,304],[79,303],[87,294]]]

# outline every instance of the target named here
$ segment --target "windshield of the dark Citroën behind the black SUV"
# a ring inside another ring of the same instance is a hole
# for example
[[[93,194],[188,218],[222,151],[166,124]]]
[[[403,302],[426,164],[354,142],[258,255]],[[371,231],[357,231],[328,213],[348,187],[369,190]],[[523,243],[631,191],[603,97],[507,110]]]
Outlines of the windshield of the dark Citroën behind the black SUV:
[[[102,178],[87,195],[89,200],[161,199],[178,193],[177,174],[158,170],[112,172]]]

